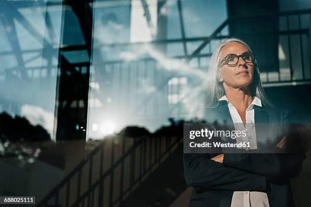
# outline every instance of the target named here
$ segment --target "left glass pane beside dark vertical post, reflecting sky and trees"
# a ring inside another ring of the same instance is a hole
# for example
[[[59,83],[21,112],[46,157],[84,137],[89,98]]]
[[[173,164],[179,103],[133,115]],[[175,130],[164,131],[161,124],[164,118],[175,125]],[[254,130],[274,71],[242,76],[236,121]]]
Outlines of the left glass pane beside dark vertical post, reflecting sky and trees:
[[[2,1],[0,195],[40,201],[64,171],[47,161],[54,114],[61,2]],[[55,163],[55,162],[54,162]],[[48,178],[48,179],[47,179]]]

